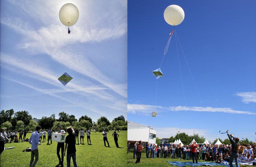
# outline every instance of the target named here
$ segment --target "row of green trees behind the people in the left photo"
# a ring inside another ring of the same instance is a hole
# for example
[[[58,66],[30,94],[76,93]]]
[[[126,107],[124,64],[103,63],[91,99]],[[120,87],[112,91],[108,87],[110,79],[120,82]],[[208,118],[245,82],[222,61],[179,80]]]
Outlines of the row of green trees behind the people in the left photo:
[[[65,112],[59,113],[59,120],[55,119],[55,114],[51,114],[49,117],[42,117],[37,123],[32,120],[32,115],[27,111],[18,111],[14,113],[13,109],[2,110],[0,112],[0,125],[1,128],[8,130],[23,130],[26,128],[28,131],[34,131],[37,125],[40,125],[42,129],[51,128],[53,131],[57,129],[57,126],[61,124],[62,129],[66,129],[68,126],[72,126],[74,129],[89,129],[102,132],[104,129],[109,130],[127,130],[127,121],[121,117],[114,118],[110,122],[106,117],[100,117],[96,122],[93,122],[87,115],[81,116],[78,120],[74,115],[69,115]],[[37,118],[33,118],[37,119]]]

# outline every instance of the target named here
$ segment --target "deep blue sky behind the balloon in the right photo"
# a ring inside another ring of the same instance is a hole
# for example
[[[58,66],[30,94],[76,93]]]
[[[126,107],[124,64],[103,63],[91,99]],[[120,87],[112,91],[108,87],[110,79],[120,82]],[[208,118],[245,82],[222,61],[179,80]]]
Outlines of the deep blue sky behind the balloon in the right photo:
[[[173,29],[163,13],[173,4],[185,18],[156,80],[151,71],[160,67]],[[255,141],[255,1],[129,0],[127,8],[128,120],[151,126],[157,137],[195,131],[213,141],[227,138],[219,131],[229,129]],[[158,115],[151,117],[155,101]]]

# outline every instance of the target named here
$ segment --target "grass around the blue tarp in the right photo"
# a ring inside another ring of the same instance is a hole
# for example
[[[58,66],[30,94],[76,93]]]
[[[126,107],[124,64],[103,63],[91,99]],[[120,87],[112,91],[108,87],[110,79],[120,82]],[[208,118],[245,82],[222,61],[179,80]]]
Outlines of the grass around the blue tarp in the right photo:
[[[137,166],[137,167],[148,167],[148,166],[170,167],[170,166],[173,166],[173,165],[169,164],[167,161],[182,161],[182,162],[190,161],[190,162],[192,162],[192,160],[183,160],[183,159],[146,158],[146,153],[142,152],[140,163],[135,164],[136,159],[133,159],[133,152],[129,152],[128,160],[127,160],[127,167],[129,167],[129,166]],[[198,160],[198,162],[204,162],[204,161]],[[235,164],[233,164],[233,166],[236,167]],[[243,165],[243,166],[249,167],[250,165]],[[191,166],[187,166],[187,167],[191,167]],[[214,165],[213,167],[220,167],[220,166]],[[227,167],[227,166],[225,166],[225,167]]]

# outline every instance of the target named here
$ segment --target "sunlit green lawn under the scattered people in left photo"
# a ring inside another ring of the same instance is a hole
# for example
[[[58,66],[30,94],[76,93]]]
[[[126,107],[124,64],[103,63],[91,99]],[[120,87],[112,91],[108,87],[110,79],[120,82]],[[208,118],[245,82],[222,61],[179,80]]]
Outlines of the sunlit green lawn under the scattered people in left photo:
[[[87,137],[84,138],[84,145],[76,145],[76,159],[78,166],[127,166],[127,131],[120,131],[118,134],[118,144],[121,148],[116,148],[112,131],[107,133],[110,147],[105,147],[103,136],[100,132],[91,133],[92,145],[87,145]],[[29,138],[31,133],[28,133],[26,138]],[[47,137],[47,136],[46,136]],[[46,138],[47,139],[47,138]],[[49,142],[50,143],[50,142]],[[107,144],[106,144],[107,145]],[[15,147],[6,149],[0,156],[1,167],[28,167],[30,162],[31,152],[22,152],[27,147],[31,147],[28,142],[7,143],[5,147]],[[55,167],[58,166],[59,159],[57,157],[57,142],[52,141],[52,144],[47,145],[42,142],[39,149],[39,160],[37,167]],[[67,152],[66,152],[67,153]],[[64,157],[64,166],[67,166],[66,157]],[[73,166],[71,158],[71,166]]]

